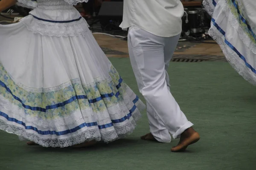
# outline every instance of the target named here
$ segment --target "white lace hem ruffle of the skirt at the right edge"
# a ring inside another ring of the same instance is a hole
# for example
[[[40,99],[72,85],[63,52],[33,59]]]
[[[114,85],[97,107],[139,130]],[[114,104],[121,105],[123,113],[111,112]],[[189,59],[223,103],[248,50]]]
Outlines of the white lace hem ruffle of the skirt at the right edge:
[[[225,43],[224,36],[217,28],[211,26],[209,35],[220,45],[227,61],[230,65],[248,82],[256,85],[256,74],[248,68],[244,61]]]

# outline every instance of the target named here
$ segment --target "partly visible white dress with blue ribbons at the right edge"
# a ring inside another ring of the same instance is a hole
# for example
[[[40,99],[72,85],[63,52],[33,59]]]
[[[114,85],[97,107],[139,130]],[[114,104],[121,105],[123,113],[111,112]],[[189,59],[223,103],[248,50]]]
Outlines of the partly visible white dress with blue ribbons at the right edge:
[[[212,16],[209,35],[244,79],[256,85],[256,1],[204,0]]]

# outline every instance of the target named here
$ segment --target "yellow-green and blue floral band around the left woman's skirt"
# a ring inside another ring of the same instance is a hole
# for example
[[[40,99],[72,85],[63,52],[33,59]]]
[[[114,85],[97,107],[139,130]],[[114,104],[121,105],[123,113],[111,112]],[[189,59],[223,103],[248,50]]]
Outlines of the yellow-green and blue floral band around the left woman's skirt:
[[[58,91],[34,93],[16,85],[0,65],[0,94],[12,104],[24,109],[29,116],[38,119],[55,119],[87,108],[91,108],[93,112],[102,112],[122,102],[126,94],[127,85],[113,66],[109,74],[111,81],[99,81],[94,85],[71,81],[69,86]]]

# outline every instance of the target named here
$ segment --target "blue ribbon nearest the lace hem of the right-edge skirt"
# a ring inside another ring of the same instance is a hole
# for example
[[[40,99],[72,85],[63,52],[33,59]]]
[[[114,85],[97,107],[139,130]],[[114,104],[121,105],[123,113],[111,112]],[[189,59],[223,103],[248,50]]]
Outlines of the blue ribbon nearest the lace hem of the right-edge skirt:
[[[230,42],[227,41],[225,31],[224,31],[223,29],[221,29],[221,27],[218,26],[217,23],[215,23],[215,20],[214,20],[213,18],[212,18],[212,23],[213,23],[213,25],[218,29],[218,31],[220,31],[220,33],[225,37],[225,43],[226,43],[233,51],[235,51],[236,54],[237,54],[242,60],[244,60],[245,65],[246,65],[248,68],[250,68],[250,70],[253,71],[253,73],[256,74],[256,70],[246,61],[245,57],[244,57],[241,53],[239,53],[239,51],[238,51]]]

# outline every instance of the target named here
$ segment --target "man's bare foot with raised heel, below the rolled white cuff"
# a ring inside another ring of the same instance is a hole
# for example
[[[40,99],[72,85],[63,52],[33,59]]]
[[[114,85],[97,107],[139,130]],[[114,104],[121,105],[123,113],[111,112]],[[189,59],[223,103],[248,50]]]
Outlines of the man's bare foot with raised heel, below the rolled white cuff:
[[[177,146],[172,147],[172,152],[184,152],[190,144],[198,142],[200,139],[199,133],[197,133],[192,127],[185,130],[180,136],[180,142]]]

